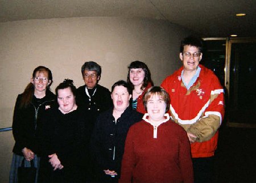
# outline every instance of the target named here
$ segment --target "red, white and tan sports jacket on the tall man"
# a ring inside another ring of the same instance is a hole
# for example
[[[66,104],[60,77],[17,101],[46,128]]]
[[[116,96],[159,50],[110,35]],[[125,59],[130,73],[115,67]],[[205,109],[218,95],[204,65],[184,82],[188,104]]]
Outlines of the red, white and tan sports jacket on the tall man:
[[[189,90],[181,80],[183,67],[164,79],[161,85],[170,95],[173,120],[197,137],[196,142],[191,143],[192,158],[214,155],[218,127],[224,117],[224,90],[211,70],[199,66],[199,77]]]

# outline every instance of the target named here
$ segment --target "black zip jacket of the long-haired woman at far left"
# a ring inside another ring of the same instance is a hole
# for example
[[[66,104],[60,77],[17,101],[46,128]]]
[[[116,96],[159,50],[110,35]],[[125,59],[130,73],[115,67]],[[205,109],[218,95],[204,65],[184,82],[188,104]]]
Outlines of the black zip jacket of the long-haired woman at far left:
[[[34,98],[27,108],[20,108],[22,95],[18,95],[13,116],[13,136],[15,145],[13,152],[23,156],[22,149],[29,148],[35,154],[40,155],[40,132],[42,130],[42,117],[52,108],[56,108],[56,96],[51,91],[46,91],[43,103],[36,107]]]

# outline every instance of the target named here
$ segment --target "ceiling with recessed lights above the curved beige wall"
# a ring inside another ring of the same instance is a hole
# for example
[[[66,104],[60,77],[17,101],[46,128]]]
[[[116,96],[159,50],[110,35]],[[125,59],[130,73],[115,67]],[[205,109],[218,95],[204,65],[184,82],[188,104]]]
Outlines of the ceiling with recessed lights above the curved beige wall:
[[[0,0],[0,22],[83,16],[163,19],[201,37],[256,37],[255,0]],[[246,16],[237,17],[237,13]]]

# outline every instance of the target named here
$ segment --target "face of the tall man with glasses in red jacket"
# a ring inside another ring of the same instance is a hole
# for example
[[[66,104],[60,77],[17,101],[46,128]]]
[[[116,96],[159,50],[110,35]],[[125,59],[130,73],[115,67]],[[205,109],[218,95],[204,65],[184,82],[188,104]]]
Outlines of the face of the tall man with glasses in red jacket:
[[[202,59],[202,53],[195,46],[185,45],[183,53],[180,53],[180,59],[183,62],[184,71],[196,71]]]

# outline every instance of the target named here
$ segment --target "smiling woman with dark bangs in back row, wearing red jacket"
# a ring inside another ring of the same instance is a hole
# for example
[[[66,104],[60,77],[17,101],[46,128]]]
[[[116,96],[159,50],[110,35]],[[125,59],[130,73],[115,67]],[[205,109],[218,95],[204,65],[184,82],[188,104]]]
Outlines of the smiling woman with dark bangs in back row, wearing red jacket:
[[[146,113],[143,106],[142,97],[144,93],[154,86],[151,80],[150,70],[147,65],[141,61],[131,62],[128,66],[127,83],[133,89],[132,107],[140,113]]]

